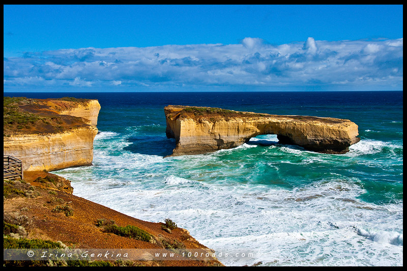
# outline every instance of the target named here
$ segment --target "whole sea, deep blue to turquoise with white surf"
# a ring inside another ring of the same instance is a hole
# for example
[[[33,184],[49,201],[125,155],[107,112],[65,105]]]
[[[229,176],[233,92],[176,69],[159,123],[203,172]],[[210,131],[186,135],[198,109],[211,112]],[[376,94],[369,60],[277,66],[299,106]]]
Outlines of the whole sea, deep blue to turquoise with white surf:
[[[403,265],[403,93],[4,93],[98,99],[93,166],[54,172],[74,195],[135,218],[170,218],[225,265]],[[213,106],[349,119],[346,154],[278,144],[275,135],[210,154],[169,155],[163,107]],[[229,255],[230,255],[229,254]]]

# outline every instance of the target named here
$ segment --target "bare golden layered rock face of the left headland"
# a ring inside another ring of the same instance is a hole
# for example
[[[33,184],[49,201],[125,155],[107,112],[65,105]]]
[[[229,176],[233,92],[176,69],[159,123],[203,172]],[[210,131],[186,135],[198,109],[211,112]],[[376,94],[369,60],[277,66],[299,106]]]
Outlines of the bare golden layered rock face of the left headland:
[[[40,100],[39,103],[41,102],[43,101]],[[52,101],[47,100],[43,103],[45,102]],[[67,127],[58,133],[15,133],[10,137],[4,137],[4,154],[22,160],[24,171],[53,171],[92,164],[93,140],[98,133],[96,124],[100,110],[99,102],[55,101],[55,104],[56,102],[60,107],[64,105],[66,108],[54,110],[55,114],[84,118],[84,123],[88,124]]]

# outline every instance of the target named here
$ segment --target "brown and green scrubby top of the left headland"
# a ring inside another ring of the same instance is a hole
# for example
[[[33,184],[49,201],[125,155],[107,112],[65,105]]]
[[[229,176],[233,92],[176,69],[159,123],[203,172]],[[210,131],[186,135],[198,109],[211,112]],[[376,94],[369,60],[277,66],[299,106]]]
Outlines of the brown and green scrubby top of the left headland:
[[[31,99],[4,97],[4,137],[12,134],[58,133],[90,126],[87,119],[64,115],[64,111],[86,106],[92,100],[71,97]]]

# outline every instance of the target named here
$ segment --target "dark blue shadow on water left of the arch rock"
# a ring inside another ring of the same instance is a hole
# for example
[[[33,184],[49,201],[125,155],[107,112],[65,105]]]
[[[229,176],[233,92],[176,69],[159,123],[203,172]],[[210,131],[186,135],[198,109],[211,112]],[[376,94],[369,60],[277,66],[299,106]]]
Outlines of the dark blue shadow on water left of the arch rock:
[[[172,150],[176,147],[175,139],[167,139],[164,137],[141,136],[131,137],[127,139],[131,142],[124,150],[132,153],[167,156],[172,154]]]

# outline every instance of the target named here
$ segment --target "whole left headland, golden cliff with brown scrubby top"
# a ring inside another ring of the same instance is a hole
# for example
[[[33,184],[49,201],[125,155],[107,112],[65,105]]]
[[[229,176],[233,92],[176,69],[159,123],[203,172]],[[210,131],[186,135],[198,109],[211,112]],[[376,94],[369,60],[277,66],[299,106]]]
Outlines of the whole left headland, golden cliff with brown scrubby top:
[[[12,99],[4,104],[4,155],[22,160],[24,171],[92,164],[97,100]]]

